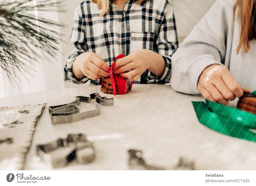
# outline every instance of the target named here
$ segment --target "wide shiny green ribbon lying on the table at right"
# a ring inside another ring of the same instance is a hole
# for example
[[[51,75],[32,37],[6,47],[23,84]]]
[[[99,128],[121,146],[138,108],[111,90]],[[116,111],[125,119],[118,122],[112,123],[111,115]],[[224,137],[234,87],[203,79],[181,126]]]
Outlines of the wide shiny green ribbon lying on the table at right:
[[[256,91],[251,93],[256,95]],[[205,100],[192,101],[197,119],[204,126],[221,134],[256,142],[256,114]]]

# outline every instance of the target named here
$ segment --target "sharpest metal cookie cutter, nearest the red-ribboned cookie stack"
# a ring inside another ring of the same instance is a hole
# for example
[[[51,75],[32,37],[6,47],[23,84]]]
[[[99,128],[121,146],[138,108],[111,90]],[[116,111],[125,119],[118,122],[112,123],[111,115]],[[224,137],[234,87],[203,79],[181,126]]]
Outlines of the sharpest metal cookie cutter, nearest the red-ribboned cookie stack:
[[[100,106],[112,106],[114,105],[114,98],[101,97],[99,93],[90,94],[90,97],[76,96],[76,100],[57,106],[50,106],[49,113],[52,117],[52,124],[63,124],[63,123],[73,123],[85,118],[90,118],[100,115]],[[92,103],[95,100],[96,104],[93,104],[94,108],[86,112],[80,112],[80,103]]]

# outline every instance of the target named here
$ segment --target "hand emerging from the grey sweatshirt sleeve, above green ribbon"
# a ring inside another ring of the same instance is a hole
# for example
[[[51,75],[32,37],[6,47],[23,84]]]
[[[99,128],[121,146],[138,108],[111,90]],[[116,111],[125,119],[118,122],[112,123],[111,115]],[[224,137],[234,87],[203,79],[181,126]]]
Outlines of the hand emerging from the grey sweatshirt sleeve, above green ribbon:
[[[197,89],[213,102],[228,105],[229,100],[243,95],[243,90],[225,66],[211,65],[200,75]]]

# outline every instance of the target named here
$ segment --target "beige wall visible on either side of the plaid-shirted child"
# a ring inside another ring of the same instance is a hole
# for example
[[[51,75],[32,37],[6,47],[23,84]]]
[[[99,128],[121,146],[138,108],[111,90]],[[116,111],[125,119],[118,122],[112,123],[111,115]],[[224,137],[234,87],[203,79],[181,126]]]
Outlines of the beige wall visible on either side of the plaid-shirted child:
[[[174,9],[178,37],[180,40],[189,34],[196,23],[204,16],[215,1],[216,0],[170,0]],[[63,34],[65,35],[63,39],[66,43],[63,43],[61,46],[61,50],[64,54],[62,56],[63,65],[71,51],[71,45],[68,44],[68,39],[72,28],[75,7],[81,2],[83,2],[83,0],[66,0],[64,4],[67,7],[68,12],[60,13],[59,16],[60,21],[66,23],[67,26],[63,31]],[[65,87],[81,86],[70,82],[65,82],[64,84]]]

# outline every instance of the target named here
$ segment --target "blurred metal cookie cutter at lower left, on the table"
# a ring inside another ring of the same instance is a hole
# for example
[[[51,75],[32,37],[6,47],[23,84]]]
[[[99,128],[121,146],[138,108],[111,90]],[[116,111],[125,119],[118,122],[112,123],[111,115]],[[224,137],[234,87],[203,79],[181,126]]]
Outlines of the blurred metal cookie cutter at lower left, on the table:
[[[93,143],[84,134],[69,134],[66,139],[36,146],[42,161],[51,161],[52,167],[63,167],[76,159],[77,163],[90,163],[95,158]]]

